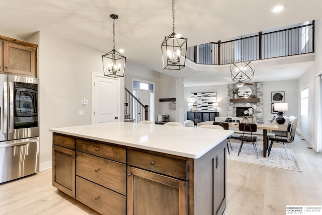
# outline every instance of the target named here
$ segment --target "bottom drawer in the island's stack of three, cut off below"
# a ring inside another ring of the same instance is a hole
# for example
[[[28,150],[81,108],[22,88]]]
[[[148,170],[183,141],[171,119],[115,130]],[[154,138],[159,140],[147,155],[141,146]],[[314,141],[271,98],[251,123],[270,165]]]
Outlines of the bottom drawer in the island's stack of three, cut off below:
[[[126,214],[126,197],[76,176],[76,199],[101,214]]]

